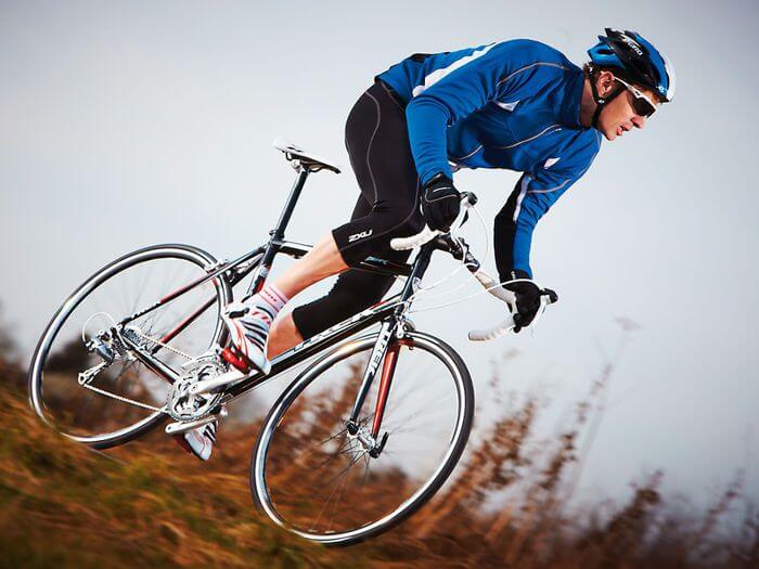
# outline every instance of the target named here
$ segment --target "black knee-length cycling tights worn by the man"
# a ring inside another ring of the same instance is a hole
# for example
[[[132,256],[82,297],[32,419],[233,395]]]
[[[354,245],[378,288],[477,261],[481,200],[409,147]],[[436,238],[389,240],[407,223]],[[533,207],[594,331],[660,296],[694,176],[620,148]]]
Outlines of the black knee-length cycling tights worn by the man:
[[[345,145],[361,189],[350,221],[332,231],[346,264],[369,256],[404,262],[410,251],[390,248],[390,238],[419,233],[420,181],[416,176],[406,112],[381,81],[353,105],[345,126]],[[369,308],[393,286],[393,276],[349,269],[330,293],[293,311],[305,338]]]

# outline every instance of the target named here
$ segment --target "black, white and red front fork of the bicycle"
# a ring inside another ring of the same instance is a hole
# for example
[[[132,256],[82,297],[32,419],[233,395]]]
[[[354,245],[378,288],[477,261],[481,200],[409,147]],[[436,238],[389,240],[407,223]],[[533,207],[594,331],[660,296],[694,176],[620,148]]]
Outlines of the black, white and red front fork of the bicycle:
[[[387,403],[387,397],[390,392],[393,374],[395,373],[396,364],[398,363],[398,353],[400,351],[400,342],[398,340],[393,340],[397,327],[398,321],[395,318],[382,324],[380,335],[372,349],[372,354],[369,357],[369,363],[366,364],[366,370],[364,371],[363,379],[361,380],[361,386],[359,387],[359,392],[353,403],[353,409],[350,412],[350,417],[346,422],[348,435],[358,439],[361,447],[368,451],[372,458],[380,456],[388,437],[388,432],[386,431],[381,439],[380,428],[382,427],[385,404]],[[372,388],[381,363],[383,363],[383,366],[380,389],[374,408],[372,428],[369,430],[365,425],[359,422],[359,414]]]

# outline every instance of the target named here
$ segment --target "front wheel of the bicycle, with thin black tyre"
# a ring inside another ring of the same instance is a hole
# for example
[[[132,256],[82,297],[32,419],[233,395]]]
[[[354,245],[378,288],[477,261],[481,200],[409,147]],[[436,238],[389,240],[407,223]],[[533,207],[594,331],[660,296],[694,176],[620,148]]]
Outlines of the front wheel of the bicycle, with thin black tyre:
[[[472,428],[464,362],[422,333],[399,341],[374,457],[346,421],[376,334],[349,340],[304,372],[269,412],[250,465],[257,505],[314,542],[347,545],[387,531],[427,502],[455,467]],[[374,421],[380,375],[358,425]]]

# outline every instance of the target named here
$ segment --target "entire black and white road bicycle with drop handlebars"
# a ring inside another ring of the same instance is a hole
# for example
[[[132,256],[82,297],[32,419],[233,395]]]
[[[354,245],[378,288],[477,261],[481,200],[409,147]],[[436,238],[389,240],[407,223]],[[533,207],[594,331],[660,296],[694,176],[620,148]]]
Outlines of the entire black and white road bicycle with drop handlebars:
[[[29,398],[66,437],[108,449],[165,424],[167,434],[180,435],[216,421],[231,401],[305,363],[262,423],[252,494],[275,523],[345,545],[388,530],[427,502],[451,475],[472,428],[474,390],[464,361],[409,319],[433,255],[452,255],[499,299],[513,298],[458,236],[476,202],[463,194],[450,232],[394,240],[394,247],[416,248],[412,262],[370,257],[357,266],[400,279],[398,294],[275,357],[268,374],[245,368],[219,315],[235,286],[247,283],[243,299],[262,287],[278,255],[309,250],[285,241],[285,229],[307,178],[339,173],[292,144],[275,146],[297,173],[268,241],[231,261],[189,245],[156,245],[95,272],[42,334]],[[469,337],[493,338],[513,325],[509,316]]]

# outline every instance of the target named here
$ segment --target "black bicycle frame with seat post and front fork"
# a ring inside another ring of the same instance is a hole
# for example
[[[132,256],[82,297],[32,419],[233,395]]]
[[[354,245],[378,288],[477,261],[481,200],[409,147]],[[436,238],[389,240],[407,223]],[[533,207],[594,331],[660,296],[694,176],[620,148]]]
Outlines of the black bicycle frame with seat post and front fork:
[[[246,253],[231,262],[222,261],[206,268],[208,274],[164,296],[150,307],[125,318],[118,323],[118,326],[124,327],[129,322],[143,316],[144,314],[147,314],[149,312],[156,310],[168,302],[171,302],[172,300],[194,289],[196,286],[207,283],[208,281],[223,279],[230,284],[230,286],[235,286],[255,270],[257,272],[248,286],[246,295],[243,297],[243,300],[245,300],[263,287],[274,258],[279,254],[288,255],[295,258],[300,258],[306,255],[310,250],[310,246],[287,242],[284,240],[285,230],[293,215],[293,210],[295,209],[295,205],[300,196],[300,192],[303,191],[309,173],[312,171],[309,167],[305,167],[300,164],[296,164],[295,167],[296,171],[298,172],[295,184],[293,185],[287,202],[285,203],[285,207],[280,216],[276,227],[269,232],[270,238],[266,245]],[[380,395],[377,397],[371,429],[371,443],[376,443],[385,403],[387,401],[387,396],[391,384],[393,372],[398,359],[398,342],[402,341],[402,339],[394,340],[394,337],[402,335],[402,331],[400,331],[399,334],[399,326],[404,322],[404,313],[410,306],[416,284],[420,283],[424,276],[424,273],[429,266],[432,254],[436,249],[446,249],[446,247],[440,243],[428,243],[420,249],[420,253],[412,264],[398,264],[374,257],[370,257],[362,261],[357,266],[358,269],[376,272],[380,274],[407,276],[403,289],[399,294],[378,302],[377,305],[336,324],[335,326],[327,328],[320,334],[314,335],[311,338],[304,340],[284,353],[278,355],[271,361],[271,371],[267,375],[261,376],[260,373],[256,371],[235,380],[231,386],[224,389],[223,401],[228,402],[236,399],[246,391],[292,368],[318,352],[336,345],[345,338],[348,338],[377,322],[382,322],[380,334],[366,364],[350,417],[346,422],[346,426],[350,435],[357,435],[359,431],[358,419],[361,408],[363,406],[374,378],[380,370],[380,364],[384,362]],[[215,302],[216,296],[211,297],[204,305],[200,306],[195,311],[184,318],[173,329],[165,334],[159,341],[167,342],[177,337]],[[156,347],[151,350],[145,350],[139,344],[132,341],[128,337],[124,337],[124,342],[132,349],[137,359],[142,361],[147,367],[153,370],[167,382],[175,383],[180,377],[180,374],[171,370],[168,365],[156,358],[156,353],[162,348],[160,345],[156,345]],[[383,443],[375,445],[374,450],[377,454],[382,451],[382,444]]]

